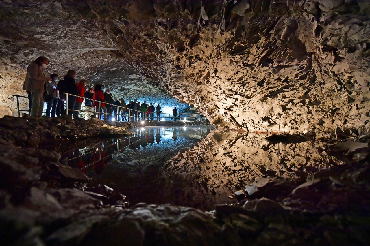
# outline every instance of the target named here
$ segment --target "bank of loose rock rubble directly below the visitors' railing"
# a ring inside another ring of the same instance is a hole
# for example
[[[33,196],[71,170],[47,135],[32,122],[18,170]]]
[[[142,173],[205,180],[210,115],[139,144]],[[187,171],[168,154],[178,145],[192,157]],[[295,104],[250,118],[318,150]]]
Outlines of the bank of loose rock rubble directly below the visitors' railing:
[[[105,123],[100,119],[72,119],[72,116],[23,118],[4,116],[0,118],[0,143],[37,146],[41,141],[57,139],[84,139],[87,137],[108,137],[131,134],[129,123]]]

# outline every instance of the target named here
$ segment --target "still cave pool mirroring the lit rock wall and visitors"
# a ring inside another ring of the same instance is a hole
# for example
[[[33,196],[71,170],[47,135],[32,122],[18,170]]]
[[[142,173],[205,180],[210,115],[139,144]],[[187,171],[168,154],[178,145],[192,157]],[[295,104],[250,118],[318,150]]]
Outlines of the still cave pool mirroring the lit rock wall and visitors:
[[[315,141],[270,143],[266,135],[210,127],[145,127],[79,148],[66,164],[138,202],[212,210],[258,177],[303,178],[339,163]],[[208,134],[209,133],[209,134]]]

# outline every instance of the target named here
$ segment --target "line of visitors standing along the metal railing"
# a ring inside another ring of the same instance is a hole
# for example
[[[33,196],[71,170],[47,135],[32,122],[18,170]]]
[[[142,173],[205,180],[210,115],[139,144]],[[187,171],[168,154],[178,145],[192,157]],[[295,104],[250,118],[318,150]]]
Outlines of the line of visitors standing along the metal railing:
[[[162,111],[159,104],[154,107],[152,103],[147,104],[146,101],[140,103],[137,99],[130,100],[127,104],[124,99],[118,100],[113,97],[110,89],[106,89],[104,93],[99,84],[85,91],[87,81],[80,79],[78,83],[75,83],[76,71],[73,69],[68,70],[60,81],[59,75],[55,73],[46,77],[43,69],[46,69],[48,64],[46,57],[38,57],[27,67],[23,89],[28,93],[31,116],[41,117],[44,101],[47,102],[47,116],[65,115],[65,93],[67,93],[71,95],[68,96],[66,102],[67,112],[68,115],[73,115],[74,119],[78,117],[85,100],[85,110],[83,110],[85,119],[101,115],[101,119],[112,120],[112,115],[114,115],[117,121],[154,121],[154,113],[156,113],[157,120],[160,120]],[[176,107],[172,111],[176,121]]]

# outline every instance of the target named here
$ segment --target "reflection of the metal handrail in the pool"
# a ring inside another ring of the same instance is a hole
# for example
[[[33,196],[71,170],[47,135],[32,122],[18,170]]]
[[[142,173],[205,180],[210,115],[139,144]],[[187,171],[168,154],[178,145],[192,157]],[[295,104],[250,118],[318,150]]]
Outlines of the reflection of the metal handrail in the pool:
[[[192,129],[190,129],[190,130],[192,130]],[[180,130],[179,130],[179,131],[180,131]],[[179,133],[179,134],[176,134],[176,136],[179,136],[179,137],[182,137],[182,136],[188,136],[188,135],[191,135],[191,133]],[[168,135],[167,135],[167,134],[161,134],[160,136],[161,136],[161,137],[172,137],[172,136],[174,136],[174,135],[173,135],[173,134],[168,134]],[[201,132],[201,136],[203,136],[203,131]],[[129,144],[127,144],[125,147],[119,148],[118,144],[122,143],[122,141],[130,140],[132,137],[139,137],[139,136],[138,136],[138,135],[135,135],[135,136],[131,136],[131,137],[128,137],[128,138],[125,138],[125,139],[117,139],[117,142],[112,143],[112,144],[109,144],[109,145],[107,145],[107,146],[104,146],[104,148],[108,148],[108,147],[110,147],[110,146],[113,146],[113,145],[116,145],[116,144],[117,144],[117,150],[116,150],[116,151],[114,151],[113,153],[109,154],[108,156],[103,157],[103,158],[101,158],[101,153],[100,153],[100,151],[101,151],[103,148],[101,148],[101,147],[100,147],[100,144],[101,144],[101,143],[104,143],[104,142],[100,142],[100,143],[98,143],[98,145],[99,145],[99,147],[98,147],[98,151],[99,151],[99,160],[94,161],[94,162],[92,162],[92,163],[90,163],[90,164],[86,165],[86,166],[85,166],[85,167],[83,167],[83,168],[80,168],[80,170],[83,170],[83,169],[84,169],[84,168],[86,168],[86,167],[89,167],[89,166],[91,166],[91,165],[93,165],[93,164],[95,164],[95,163],[98,163],[99,161],[104,160],[105,158],[110,157],[110,156],[112,156],[112,155],[116,154],[118,151],[120,151],[120,150],[122,150],[122,149],[124,149],[124,148],[126,148],[126,147],[128,147],[128,146],[131,146],[132,144],[137,143],[138,141],[142,140],[142,138],[139,138],[137,141],[134,141],[134,142],[132,142],[132,143],[129,143]],[[152,134],[152,136],[149,136],[149,137],[153,137],[153,138],[154,138],[154,134]],[[95,146],[96,146],[96,145],[95,145]],[[144,147],[144,146],[142,146],[142,147]],[[91,153],[94,153],[94,152],[96,152],[96,151],[95,151],[95,150],[91,150],[91,151],[89,151],[89,152],[87,152],[87,153],[84,153],[84,154],[81,154],[81,155],[79,155],[79,156],[77,156],[77,157],[73,157],[73,158],[68,158],[68,157],[66,157],[66,158],[65,158],[66,164],[68,165],[68,162],[69,162],[69,161],[71,161],[71,160],[75,160],[75,159],[77,159],[77,158],[79,158],[79,157],[83,157],[83,156],[85,156],[85,155],[87,155],[87,154],[91,154]]]

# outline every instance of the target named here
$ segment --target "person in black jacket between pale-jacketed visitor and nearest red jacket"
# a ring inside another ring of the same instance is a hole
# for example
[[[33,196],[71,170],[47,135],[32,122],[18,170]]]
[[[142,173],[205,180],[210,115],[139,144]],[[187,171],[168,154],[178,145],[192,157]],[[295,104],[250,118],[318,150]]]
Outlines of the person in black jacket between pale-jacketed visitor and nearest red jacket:
[[[70,69],[67,71],[67,74],[64,76],[64,78],[59,82],[61,84],[61,90],[62,93],[68,93],[71,95],[78,95],[76,83],[74,81],[74,78],[76,77],[76,71],[73,69]],[[60,91],[59,91],[60,93]],[[67,98],[66,95],[64,95],[64,98]],[[68,115],[73,115],[73,109],[76,105],[76,97],[75,96],[68,96]]]

